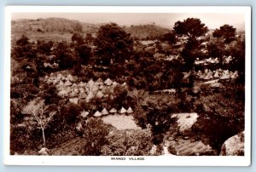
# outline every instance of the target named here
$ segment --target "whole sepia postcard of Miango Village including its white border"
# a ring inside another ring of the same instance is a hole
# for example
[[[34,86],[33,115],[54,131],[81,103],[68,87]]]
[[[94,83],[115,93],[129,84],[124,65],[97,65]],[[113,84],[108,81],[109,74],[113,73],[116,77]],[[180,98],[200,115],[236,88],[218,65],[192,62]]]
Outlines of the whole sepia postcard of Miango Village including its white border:
[[[249,164],[250,13],[6,7],[5,162]]]

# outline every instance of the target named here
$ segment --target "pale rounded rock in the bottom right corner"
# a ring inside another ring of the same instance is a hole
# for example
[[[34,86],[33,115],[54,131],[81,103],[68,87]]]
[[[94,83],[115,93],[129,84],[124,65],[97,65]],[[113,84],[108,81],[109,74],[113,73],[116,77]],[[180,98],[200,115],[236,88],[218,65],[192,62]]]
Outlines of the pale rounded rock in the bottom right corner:
[[[244,156],[244,131],[225,140],[220,156]]]

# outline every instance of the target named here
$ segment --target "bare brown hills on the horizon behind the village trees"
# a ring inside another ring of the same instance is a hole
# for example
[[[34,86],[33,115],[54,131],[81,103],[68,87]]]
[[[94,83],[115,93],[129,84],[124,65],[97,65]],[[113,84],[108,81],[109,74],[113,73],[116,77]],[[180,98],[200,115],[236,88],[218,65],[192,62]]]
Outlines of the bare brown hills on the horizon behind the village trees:
[[[37,20],[13,20],[12,40],[15,42],[21,35],[30,37],[35,41],[43,39],[45,41],[70,41],[73,32],[82,34],[96,33],[100,26],[104,24],[89,24],[79,20],[68,20],[63,18],[47,18]],[[170,30],[154,25],[123,26],[131,37],[140,39],[147,37],[157,37]]]

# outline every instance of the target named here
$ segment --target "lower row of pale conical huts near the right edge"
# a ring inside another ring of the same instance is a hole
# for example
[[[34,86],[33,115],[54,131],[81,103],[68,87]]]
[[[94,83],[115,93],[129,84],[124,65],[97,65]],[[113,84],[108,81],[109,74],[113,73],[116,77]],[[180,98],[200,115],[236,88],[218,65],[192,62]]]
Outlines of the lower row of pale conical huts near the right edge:
[[[218,69],[216,71],[211,71],[209,69],[205,69],[204,72],[201,72],[200,70],[196,72],[196,77],[200,79],[213,79],[213,78],[218,78],[218,79],[236,79],[238,77],[238,72],[230,72],[228,69],[227,70],[222,70]]]

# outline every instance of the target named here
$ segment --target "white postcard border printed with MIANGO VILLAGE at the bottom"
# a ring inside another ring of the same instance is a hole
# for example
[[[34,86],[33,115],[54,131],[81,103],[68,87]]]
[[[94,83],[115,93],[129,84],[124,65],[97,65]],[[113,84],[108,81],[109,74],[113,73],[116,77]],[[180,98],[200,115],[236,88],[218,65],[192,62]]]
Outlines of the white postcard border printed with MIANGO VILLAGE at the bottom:
[[[184,157],[146,156],[144,161],[110,160],[105,157],[81,156],[11,156],[9,155],[9,103],[10,103],[10,37],[12,13],[240,13],[245,14],[246,31],[246,108],[245,156],[242,157]],[[88,165],[88,166],[248,166],[251,164],[251,7],[125,7],[125,6],[7,6],[4,26],[4,164],[7,165]]]

